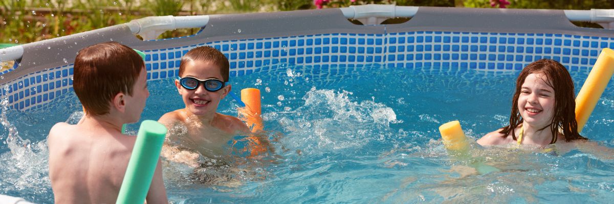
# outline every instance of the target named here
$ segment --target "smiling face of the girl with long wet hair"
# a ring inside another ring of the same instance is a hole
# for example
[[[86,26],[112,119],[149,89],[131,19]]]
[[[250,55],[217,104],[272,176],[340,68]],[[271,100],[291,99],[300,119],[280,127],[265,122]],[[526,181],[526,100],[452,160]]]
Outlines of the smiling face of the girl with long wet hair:
[[[529,74],[518,97],[518,112],[531,126],[543,128],[552,123],[554,116],[554,89],[541,74]]]

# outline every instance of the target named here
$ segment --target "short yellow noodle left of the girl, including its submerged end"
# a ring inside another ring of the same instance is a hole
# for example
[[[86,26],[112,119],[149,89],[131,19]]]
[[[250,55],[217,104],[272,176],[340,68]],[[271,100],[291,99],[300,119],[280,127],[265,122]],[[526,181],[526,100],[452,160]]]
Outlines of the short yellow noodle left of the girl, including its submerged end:
[[[462,131],[461,123],[459,121],[451,121],[439,126],[439,133],[443,140],[443,145],[448,149],[448,153],[457,159],[469,160],[472,156],[468,154],[469,143],[467,137]],[[482,162],[472,162],[470,167],[475,168],[480,174],[486,174],[490,172],[498,171],[498,168],[486,165]]]

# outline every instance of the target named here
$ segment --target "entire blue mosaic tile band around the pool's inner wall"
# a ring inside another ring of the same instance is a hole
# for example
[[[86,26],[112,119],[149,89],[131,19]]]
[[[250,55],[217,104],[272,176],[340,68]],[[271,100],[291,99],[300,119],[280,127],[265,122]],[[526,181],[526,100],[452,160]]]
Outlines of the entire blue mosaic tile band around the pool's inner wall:
[[[147,79],[176,77],[181,56],[199,46],[222,51],[231,77],[268,73],[279,64],[309,65],[316,73],[330,67],[380,64],[406,69],[521,70],[542,58],[561,62],[571,72],[588,71],[602,48],[614,38],[565,34],[493,32],[398,32],[389,34],[317,34],[265,39],[228,40],[144,50]],[[339,72],[343,74],[343,72]],[[72,91],[72,64],[36,72],[4,85],[11,108],[26,110]],[[334,76],[333,76],[334,77]]]

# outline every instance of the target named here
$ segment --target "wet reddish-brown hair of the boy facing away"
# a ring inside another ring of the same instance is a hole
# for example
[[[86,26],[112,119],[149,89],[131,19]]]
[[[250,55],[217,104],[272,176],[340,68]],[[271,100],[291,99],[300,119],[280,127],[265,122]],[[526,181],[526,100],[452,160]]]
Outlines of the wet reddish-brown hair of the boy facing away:
[[[89,115],[109,113],[109,102],[118,93],[132,96],[134,83],[144,69],[136,51],[117,42],[83,48],[74,64],[72,88]]]

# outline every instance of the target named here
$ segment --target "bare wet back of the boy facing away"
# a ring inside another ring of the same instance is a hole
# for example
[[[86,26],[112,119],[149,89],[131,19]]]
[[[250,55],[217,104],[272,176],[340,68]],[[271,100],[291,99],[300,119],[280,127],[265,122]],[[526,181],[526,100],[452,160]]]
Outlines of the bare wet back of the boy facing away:
[[[59,203],[114,203],[136,137],[58,123],[49,132],[49,175]]]

